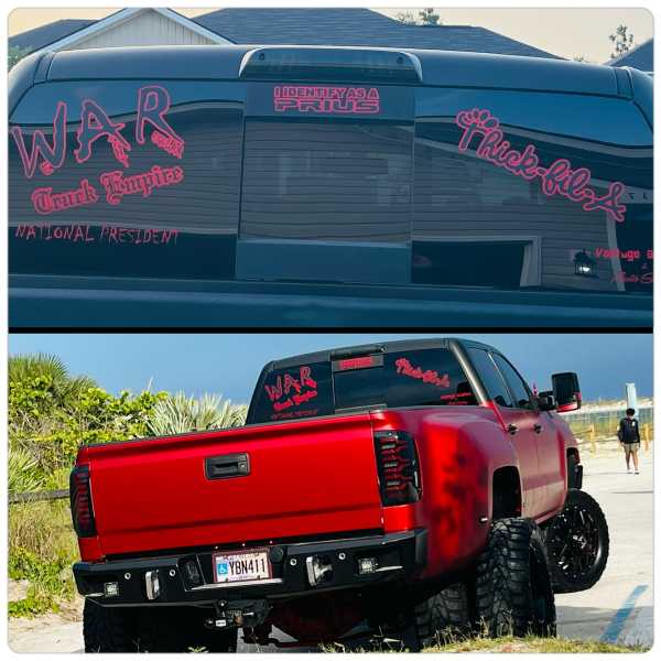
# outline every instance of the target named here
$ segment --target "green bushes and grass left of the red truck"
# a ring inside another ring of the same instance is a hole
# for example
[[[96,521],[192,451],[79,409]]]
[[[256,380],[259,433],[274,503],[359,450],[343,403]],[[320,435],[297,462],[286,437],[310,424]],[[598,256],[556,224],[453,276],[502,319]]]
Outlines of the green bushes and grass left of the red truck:
[[[55,356],[10,357],[9,492],[67,489],[82,444],[237,426],[246,412],[220,395],[113,395],[89,377],[72,376]],[[10,614],[34,615],[71,599],[77,556],[67,500],[10,506],[9,575],[30,582]]]

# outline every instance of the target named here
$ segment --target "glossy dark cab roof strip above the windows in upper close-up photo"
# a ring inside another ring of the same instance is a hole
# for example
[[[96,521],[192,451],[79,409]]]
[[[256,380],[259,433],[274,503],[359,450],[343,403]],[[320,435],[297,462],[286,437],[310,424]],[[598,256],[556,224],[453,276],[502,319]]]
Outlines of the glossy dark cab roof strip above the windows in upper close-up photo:
[[[137,46],[91,48],[41,54],[35,82],[150,78],[150,79],[240,79],[243,58],[254,51],[280,53],[283,63],[347,55],[378,58],[401,55],[414,62],[420,79],[415,84],[452,87],[488,87],[540,91],[564,91],[618,96],[621,84],[615,68],[566,59],[494,55],[456,51],[394,50],[342,46]],[[621,72],[620,69],[620,73]],[[350,77],[350,76],[349,76]],[[251,78],[254,79],[254,78]],[[288,78],[284,78],[288,79]]]

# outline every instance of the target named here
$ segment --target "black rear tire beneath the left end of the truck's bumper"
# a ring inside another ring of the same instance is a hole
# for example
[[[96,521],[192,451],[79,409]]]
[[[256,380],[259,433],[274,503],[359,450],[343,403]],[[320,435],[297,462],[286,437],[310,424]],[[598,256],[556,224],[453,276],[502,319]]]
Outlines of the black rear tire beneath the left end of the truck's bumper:
[[[195,607],[107,608],[86,599],[83,636],[86,652],[236,652],[237,629],[204,627]]]

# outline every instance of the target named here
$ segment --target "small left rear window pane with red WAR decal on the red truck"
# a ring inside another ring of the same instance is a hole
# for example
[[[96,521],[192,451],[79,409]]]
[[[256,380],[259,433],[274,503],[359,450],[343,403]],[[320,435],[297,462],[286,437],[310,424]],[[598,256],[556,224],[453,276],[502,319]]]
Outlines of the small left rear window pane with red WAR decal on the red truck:
[[[330,365],[312,362],[267,375],[254,392],[249,423],[334,413]]]

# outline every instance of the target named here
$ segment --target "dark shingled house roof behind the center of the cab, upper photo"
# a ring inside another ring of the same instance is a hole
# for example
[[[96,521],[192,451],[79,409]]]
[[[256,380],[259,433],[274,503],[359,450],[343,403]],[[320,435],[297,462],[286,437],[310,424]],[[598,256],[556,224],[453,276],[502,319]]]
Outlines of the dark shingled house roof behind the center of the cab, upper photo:
[[[553,57],[473,25],[408,25],[369,9],[221,9],[194,19],[238,44],[387,46]]]

